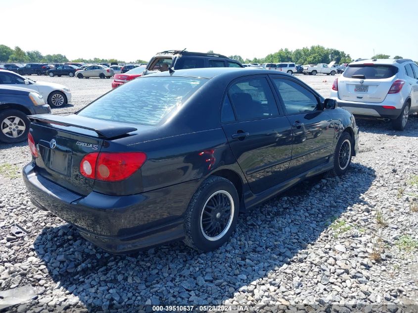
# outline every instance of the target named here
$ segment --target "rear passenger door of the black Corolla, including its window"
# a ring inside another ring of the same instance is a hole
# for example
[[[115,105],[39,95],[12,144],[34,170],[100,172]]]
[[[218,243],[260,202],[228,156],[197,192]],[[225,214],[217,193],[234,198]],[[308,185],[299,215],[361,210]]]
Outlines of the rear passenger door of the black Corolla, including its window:
[[[279,111],[264,75],[234,81],[221,122],[231,150],[253,193],[283,182],[291,156],[291,127]]]

